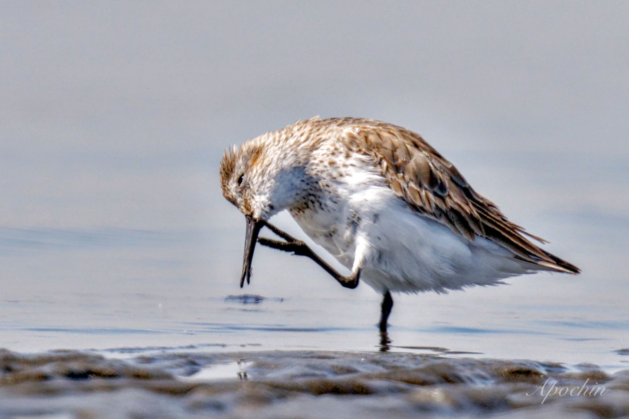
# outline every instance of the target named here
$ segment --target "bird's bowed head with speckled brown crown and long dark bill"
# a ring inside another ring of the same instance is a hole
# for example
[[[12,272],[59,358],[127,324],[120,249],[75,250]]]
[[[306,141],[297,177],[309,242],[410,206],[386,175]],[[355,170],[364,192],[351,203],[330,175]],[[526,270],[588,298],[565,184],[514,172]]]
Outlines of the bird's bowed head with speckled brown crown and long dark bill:
[[[260,229],[270,217],[294,206],[308,183],[299,153],[287,151],[282,141],[272,141],[272,134],[226,150],[220,165],[223,196],[247,220],[241,287],[245,279],[250,281]]]

